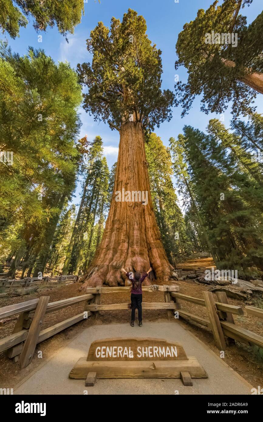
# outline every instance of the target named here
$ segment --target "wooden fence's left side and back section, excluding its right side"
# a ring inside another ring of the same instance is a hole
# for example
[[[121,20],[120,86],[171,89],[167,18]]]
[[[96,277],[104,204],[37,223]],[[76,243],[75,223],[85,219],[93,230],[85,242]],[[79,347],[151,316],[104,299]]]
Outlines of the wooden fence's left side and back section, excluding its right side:
[[[142,289],[144,292],[162,291],[165,297],[165,302],[144,302],[142,304],[144,309],[166,309],[170,313],[171,310],[176,309],[176,304],[170,298],[170,292],[178,292],[179,287],[153,285],[142,287]],[[76,322],[87,319],[92,314],[97,316],[100,310],[130,309],[130,303],[100,305],[101,293],[130,292],[130,287],[96,287],[87,290],[89,292],[86,295],[57,302],[49,303],[49,297],[41,297],[0,308],[0,319],[19,314],[13,333],[0,339],[0,352],[6,351],[6,355],[10,359],[14,359],[15,362],[19,360],[20,367],[25,368],[32,361],[35,347],[41,341],[65,330]],[[43,318],[46,314],[80,302],[84,302],[84,311],[81,314],[41,330]]]

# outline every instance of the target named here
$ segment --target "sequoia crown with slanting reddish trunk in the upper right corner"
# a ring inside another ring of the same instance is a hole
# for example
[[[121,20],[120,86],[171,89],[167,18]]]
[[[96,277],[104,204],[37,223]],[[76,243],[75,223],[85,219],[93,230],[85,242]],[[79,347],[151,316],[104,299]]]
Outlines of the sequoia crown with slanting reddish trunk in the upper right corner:
[[[188,71],[187,83],[176,84],[182,115],[195,95],[203,94],[201,110],[206,113],[222,113],[232,101],[233,114],[238,115],[250,113],[252,100],[258,92],[263,94],[263,12],[247,25],[239,12],[252,0],[217,3],[198,10],[178,36],[176,69],[184,65]]]

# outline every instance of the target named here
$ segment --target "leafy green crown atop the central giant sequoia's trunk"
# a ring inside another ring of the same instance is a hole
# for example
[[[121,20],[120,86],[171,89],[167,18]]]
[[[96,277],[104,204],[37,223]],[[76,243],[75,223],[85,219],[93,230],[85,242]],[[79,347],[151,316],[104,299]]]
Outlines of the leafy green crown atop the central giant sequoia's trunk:
[[[92,64],[77,66],[80,81],[89,88],[84,109],[108,122],[112,129],[133,119],[144,127],[171,119],[174,95],[161,91],[161,51],[146,35],[146,22],[131,9],[122,22],[111,19],[111,30],[99,22],[87,40]]]

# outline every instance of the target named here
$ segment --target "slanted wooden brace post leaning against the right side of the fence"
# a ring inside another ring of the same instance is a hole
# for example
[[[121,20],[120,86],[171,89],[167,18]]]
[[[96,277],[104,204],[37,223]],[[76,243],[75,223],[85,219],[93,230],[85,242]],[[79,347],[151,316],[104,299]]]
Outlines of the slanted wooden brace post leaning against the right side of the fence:
[[[220,350],[226,349],[225,338],[220,324],[220,319],[217,314],[217,308],[214,303],[212,292],[203,292],[206,310],[208,312],[209,321],[211,324],[214,341],[216,342],[217,348]]]

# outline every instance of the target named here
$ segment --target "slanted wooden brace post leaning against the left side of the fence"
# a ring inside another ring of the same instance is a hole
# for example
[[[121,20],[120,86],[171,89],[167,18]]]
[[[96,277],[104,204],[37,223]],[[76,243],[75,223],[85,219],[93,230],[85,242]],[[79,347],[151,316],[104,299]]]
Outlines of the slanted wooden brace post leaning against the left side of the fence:
[[[28,330],[27,338],[25,339],[22,352],[20,354],[19,363],[20,368],[26,368],[33,359],[35,346],[37,345],[38,335],[41,330],[43,318],[46,314],[46,307],[49,303],[49,296],[42,296],[39,298],[35,314]]]

